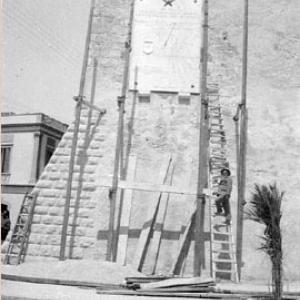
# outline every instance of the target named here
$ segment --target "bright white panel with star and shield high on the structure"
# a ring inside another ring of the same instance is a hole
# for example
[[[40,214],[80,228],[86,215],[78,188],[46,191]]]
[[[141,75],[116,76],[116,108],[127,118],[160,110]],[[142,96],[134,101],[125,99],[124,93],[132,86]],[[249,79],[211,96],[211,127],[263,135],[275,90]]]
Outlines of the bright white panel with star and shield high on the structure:
[[[175,0],[165,6],[163,0],[136,1],[130,88],[137,65],[141,92],[198,92],[201,3]]]

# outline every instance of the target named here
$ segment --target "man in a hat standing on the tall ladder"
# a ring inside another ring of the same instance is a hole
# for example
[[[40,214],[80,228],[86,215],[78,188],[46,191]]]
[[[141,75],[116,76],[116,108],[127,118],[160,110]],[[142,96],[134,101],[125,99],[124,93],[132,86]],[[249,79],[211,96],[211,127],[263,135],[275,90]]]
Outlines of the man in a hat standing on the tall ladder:
[[[218,186],[217,198],[215,200],[217,212],[216,215],[224,215],[226,224],[230,224],[231,214],[230,214],[230,194],[232,190],[232,178],[231,172],[228,168],[221,169],[221,179]],[[224,210],[224,214],[223,214]]]

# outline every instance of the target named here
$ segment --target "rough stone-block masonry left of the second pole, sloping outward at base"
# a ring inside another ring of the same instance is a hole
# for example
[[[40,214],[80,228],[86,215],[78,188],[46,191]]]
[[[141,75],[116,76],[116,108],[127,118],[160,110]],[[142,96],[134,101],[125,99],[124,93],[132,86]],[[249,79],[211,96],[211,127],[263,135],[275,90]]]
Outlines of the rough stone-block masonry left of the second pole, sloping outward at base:
[[[87,249],[96,241],[97,221],[94,216],[100,200],[95,195],[99,185],[96,170],[100,166],[100,173],[112,172],[111,150],[114,149],[117,131],[116,100],[121,90],[124,66],[122,50],[128,31],[129,2],[96,1],[85,95],[89,100],[92,62],[97,57],[95,104],[106,108],[107,114],[100,121],[96,111],[84,109],[81,116],[66,249],[66,255],[72,258],[91,258],[92,253]],[[36,185],[35,191],[39,192],[39,196],[31,226],[27,259],[33,256],[35,259],[39,256],[45,259],[59,255],[72,138],[73,125],[65,133]],[[108,200],[105,200],[105,209],[102,210],[104,214],[108,210]]]

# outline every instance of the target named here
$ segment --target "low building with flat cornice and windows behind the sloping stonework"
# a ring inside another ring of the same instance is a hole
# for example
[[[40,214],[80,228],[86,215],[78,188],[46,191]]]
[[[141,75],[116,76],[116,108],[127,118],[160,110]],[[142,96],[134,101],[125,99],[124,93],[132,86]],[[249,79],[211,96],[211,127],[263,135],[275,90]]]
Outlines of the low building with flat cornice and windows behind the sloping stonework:
[[[1,119],[1,201],[13,225],[24,194],[33,189],[68,126],[42,113],[2,113]]]

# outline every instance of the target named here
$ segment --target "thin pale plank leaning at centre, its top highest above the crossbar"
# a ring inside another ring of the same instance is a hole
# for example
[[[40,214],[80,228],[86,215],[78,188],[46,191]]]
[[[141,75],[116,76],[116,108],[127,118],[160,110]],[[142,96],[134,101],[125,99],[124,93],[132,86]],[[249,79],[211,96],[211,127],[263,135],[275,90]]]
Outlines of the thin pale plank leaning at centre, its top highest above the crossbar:
[[[170,169],[171,169],[170,170],[171,176],[169,178],[169,183],[170,183],[170,185],[172,185],[173,175],[174,175],[174,165],[172,165]],[[169,193],[168,194],[163,193],[161,195],[161,199],[160,199],[159,210],[157,213],[153,237],[152,237],[152,241],[151,241],[151,248],[149,250],[149,254],[150,254],[149,260],[154,262],[153,266],[152,266],[152,274],[154,274],[155,270],[156,270],[156,265],[157,265],[158,256],[159,256],[159,249],[160,249],[160,244],[161,244],[161,236],[162,236],[162,232],[163,232],[164,222],[166,219],[169,198],[170,198]]]

